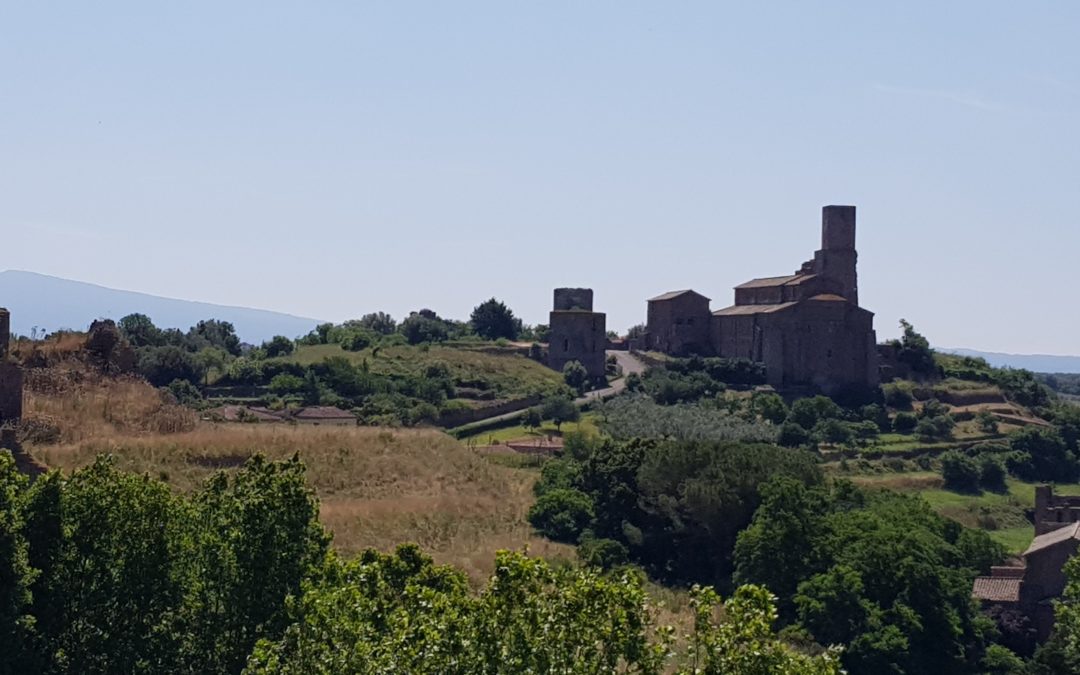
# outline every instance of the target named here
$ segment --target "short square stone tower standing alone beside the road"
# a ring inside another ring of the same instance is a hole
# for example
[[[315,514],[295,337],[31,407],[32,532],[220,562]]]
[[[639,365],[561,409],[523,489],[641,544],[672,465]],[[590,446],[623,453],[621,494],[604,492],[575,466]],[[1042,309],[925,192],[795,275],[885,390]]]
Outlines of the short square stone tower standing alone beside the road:
[[[590,378],[604,379],[607,316],[593,311],[592,288],[555,288],[549,319],[548,365],[562,370],[568,362],[577,361]]]

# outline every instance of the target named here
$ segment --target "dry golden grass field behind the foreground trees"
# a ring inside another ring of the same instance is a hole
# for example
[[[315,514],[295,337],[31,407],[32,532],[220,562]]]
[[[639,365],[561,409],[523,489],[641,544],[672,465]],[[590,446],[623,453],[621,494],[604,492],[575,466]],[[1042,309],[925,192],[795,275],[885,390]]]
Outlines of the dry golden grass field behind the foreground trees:
[[[172,435],[113,435],[33,449],[50,467],[66,470],[103,453],[121,469],[160,476],[180,490],[255,453],[272,459],[299,453],[339,551],[388,551],[413,541],[475,583],[491,573],[500,549],[573,557],[571,546],[537,537],[525,519],[535,471],[489,462],[433,430],[201,423]]]

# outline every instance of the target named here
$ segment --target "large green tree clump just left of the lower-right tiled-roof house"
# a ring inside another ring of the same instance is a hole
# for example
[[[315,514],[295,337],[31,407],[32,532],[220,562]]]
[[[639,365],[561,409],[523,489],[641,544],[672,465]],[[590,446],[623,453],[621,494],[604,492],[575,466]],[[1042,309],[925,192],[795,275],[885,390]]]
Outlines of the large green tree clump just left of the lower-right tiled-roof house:
[[[734,578],[779,595],[818,643],[847,645],[855,675],[973,673],[990,629],[971,580],[1002,556],[918,498],[780,477],[739,535]]]

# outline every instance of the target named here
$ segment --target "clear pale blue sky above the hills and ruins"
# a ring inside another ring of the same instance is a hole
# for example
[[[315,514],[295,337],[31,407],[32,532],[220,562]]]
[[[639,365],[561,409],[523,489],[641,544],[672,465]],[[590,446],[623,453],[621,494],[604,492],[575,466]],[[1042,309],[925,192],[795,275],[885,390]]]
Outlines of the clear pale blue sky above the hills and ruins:
[[[546,323],[792,273],[1080,353],[1080,3],[0,1],[0,270]],[[0,298],[2,300],[2,298]]]

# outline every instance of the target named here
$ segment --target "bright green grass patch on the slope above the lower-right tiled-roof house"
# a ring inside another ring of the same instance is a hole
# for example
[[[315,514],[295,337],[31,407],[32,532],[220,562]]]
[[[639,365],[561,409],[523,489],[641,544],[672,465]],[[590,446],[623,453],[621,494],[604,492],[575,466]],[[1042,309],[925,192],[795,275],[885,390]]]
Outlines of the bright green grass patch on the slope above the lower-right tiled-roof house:
[[[860,485],[922,496],[937,513],[968,527],[987,530],[1010,553],[1022,553],[1031,543],[1035,528],[1025,510],[1035,505],[1035,485],[1009,478],[1009,491],[967,495],[942,487],[941,475],[930,471],[852,476]],[[1080,495],[1080,485],[1055,485],[1058,495]]]

